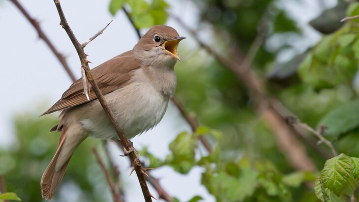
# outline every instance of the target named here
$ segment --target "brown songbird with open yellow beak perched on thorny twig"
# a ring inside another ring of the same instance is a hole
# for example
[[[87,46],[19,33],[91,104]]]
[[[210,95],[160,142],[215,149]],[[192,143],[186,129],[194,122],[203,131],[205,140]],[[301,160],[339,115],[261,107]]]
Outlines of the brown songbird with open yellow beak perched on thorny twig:
[[[153,26],[132,50],[90,70],[127,139],[150,130],[165,114],[176,90],[177,46],[184,38],[172,27]],[[60,111],[58,125],[50,129],[60,131],[58,149],[40,182],[45,200],[54,197],[71,156],[86,138],[119,140],[93,91],[89,98],[80,78],[42,114]]]

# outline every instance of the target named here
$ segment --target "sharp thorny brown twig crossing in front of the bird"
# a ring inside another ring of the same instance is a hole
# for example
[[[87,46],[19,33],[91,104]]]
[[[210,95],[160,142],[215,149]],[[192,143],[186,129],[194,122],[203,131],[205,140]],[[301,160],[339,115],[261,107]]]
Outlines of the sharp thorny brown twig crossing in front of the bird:
[[[95,83],[95,81],[93,80],[91,71],[90,71],[90,67],[89,67],[89,61],[87,60],[87,55],[84,52],[84,48],[81,46],[81,44],[78,42],[77,38],[75,37],[74,33],[72,32],[72,30],[70,29],[70,27],[68,26],[68,23],[66,21],[66,18],[63,14],[61,5],[60,5],[60,0],[54,0],[56,8],[58,10],[59,16],[60,16],[60,25],[62,26],[63,29],[65,29],[68,37],[70,38],[70,40],[72,41],[72,44],[74,45],[77,54],[79,55],[80,61],[81,61],[81,65],[83,67],[85,67],[85,73],[86,73],[86,77],[88,79],[88,81],[90,82],[92,89],[94,91],[94,93],[96,94],[96,97],[98,99],[98,101],[100,102],[102,108],[104,109],[105,113],[107,114],[107,116],[109,117],[112,125],[114,126],[116,133],[118,134],[120,140],[123,143],[123,147],[126,150],[130,150],[129,146],[129,142],[126,139],[125,134],[123,133],[123,131],[120,129],[119,123],[117,122],[117,119],[114,115],[114,113],[111,111],[107,101],[105,100],[104,96],[102,95],[99,87],[97,86],[97,84]],[[136,157],[136,154],[132,151],[129,154],[129,157],[131,158],[131,161],[134,164],[134,169],[136,171],[138,180],[140,182],[141,185],[141,189],[142,189],[142,193],[144,195],[145,201],[146,202],[152,202],[151,199],[151,194],[149,191],[149,188],[147,186],[144,174],[141,170],[141,162],[138,160],[138,158]]]

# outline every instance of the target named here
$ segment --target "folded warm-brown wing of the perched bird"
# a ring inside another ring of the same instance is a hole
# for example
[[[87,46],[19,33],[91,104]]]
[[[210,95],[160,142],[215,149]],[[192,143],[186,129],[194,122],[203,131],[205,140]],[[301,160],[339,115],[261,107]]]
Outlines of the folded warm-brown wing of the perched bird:
[[[132,51],[128,51],[91,69],[91,73],[102,94],[105,95],[126,86],[133,75],[133,70],[140,68],[140,66],[141,62],[134,57]],[[83,91],[82,79],[80,78],[62,94],[59,101],[42,115],[88,102]],[[90,101],[97,99],[93,90],[90,91],[89,97]]]

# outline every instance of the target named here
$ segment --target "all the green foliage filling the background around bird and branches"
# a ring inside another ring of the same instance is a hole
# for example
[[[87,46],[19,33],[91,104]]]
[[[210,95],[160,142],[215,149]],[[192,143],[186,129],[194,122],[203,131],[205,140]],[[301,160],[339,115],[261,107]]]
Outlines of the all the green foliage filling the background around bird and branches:
[[[201,168],[201,183],[218,202],[346,202],[352,194],[358,199],[359,20],[339,24],[337,19],[344,12],[359,15],[359,3],[339,2],[311,19],[310,25],[322,33],[320,41],[278,62],[278,53],[305,40],[303,26],[281,5],[282,0],[192,2],[199,11],[198,31],[207,28],[212,40],[206,43],[224,57],[240,61],[256,36],[264,36],[250,68],[266,79],[267,95],[313,128],[326,126],[325,137],[343,154],[327,160],[315,147],[328,153],[329,148],[300,139],[321,172],[293,169],[242,81],[203,51],[181,46],[176,96],[201,126],[175,137],[164,159],[143,148],[140,153],[146,165],[170,166],[181,174]],[[115,15],[122,7],[140,29],[164,24],[168,18],[165,0],[111,0],[109,11]],[[272,49],[267,44],[275,37],[280,41]],[[7,179],[8,190],[23,201],[41,201],[39,179],[57,147],[57,138],[47,131],[55,124],[51,116],[18,115],[16,144],[0,150],[0,174]],[[210,141],[213,152],[203,151],[197,141],[200,136]],[[90,144],[87,140],[76,151],[72,162],[77,163],[70,163],[63,181],[81,187],[78,201],[109,201],[103,176],[94,174],[100,171],[88,154]],[[188,202],[197,201],[203,201],[203,196]]]

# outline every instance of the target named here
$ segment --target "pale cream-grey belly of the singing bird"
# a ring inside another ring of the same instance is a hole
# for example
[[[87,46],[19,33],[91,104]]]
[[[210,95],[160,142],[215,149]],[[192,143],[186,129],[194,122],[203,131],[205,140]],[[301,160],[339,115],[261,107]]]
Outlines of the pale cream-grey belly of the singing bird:
[[[141,134],[158,124],[166,112],[169,98],[146,83],[132,83],[105,95],[111,110],[127,138]],[[98,101],[81,120],[89,136],[118,139],[113,125]]]

